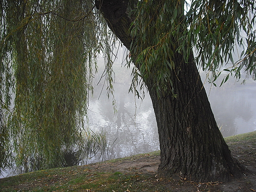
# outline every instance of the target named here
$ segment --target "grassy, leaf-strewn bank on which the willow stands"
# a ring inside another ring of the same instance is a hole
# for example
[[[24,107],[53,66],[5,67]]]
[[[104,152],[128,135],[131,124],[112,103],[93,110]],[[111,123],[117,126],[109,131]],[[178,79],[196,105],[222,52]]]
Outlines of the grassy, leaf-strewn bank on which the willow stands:
[[[232,155],[256,171],[256,131],[225,138]],[[160,152],[0,179],[0,192],[256,192],[256,175],[196,183],[157,175]]]

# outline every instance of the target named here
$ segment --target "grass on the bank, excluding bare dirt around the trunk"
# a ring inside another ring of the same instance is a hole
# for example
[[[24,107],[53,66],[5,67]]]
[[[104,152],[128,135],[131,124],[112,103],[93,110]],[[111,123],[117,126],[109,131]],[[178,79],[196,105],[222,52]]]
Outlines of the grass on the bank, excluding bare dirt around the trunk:
[[[239,141],[256,142],[256,131],[226,137],[225,140],[228,145]],[[0,179],[0,192],[167,192],[170,190],[168,180],[157,179],[154,173],[145,174],[136,170],[112,172],[99,168],[142,157],[150,159],[159,155],[160,151],[156,151],[96,164],[24,173]]]

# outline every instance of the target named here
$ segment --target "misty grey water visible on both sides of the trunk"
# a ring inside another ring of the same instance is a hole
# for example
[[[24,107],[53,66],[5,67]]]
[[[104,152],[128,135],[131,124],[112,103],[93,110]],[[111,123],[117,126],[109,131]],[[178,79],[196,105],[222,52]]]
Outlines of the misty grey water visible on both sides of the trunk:
[[[99,59],[100,62],[100,59]],[[120,62],[114,64],[114,96],[117,113],[114,114],[112,99],[106,97],[103,83],[95,87],[90,98],[89,126],[94,131],[105,130],[109,143],[113,143],[113,154],[110,158],[122,158],[139,153],[159,150],[158,129],[149,94],[145,91],[143,101],[128,93],[130,86],[130,69]],[[222,77],[217,87],[208,83],[205,72],[201,79],[209,96],[209,101],[217,125],[224,137],[256,130],[256,82],[247,79],[229,80],[221,87]],[[223,76],[224,77],[224,76]],[[97,77],[96,77],[97,80]],[[101,95],[100,95],[101,93]],[[100,95],[100,97],[99,97]],[[98,98],[99,97],[99,98]]]

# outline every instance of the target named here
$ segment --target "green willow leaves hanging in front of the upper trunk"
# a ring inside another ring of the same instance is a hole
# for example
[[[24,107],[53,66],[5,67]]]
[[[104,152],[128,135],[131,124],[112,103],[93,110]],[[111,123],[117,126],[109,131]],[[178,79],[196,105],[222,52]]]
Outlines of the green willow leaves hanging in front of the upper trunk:
[[[186,30],[184,1],[146,0],[130,7],[131,15],[136,15],[130,32],[134,63],[144,81],[153,81],[159,96],[164,92],[174,95],[170,76],[176,67],[174,53]]]

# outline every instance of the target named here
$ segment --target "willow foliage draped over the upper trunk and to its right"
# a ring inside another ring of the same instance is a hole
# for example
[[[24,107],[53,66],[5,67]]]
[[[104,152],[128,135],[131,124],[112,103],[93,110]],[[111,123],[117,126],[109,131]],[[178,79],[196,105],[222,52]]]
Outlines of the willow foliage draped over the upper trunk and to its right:
[[[213,73],[223,70],[240,78],[240,72],[256,74],[256,3],[254,0],[132,0],[131,55],[143,80],[151,78],[159,96],[175,96],[171,71],[178,73],[175,55],[186,62],[193,55],[196,64]],[[187,8],[188,11],[185,11]],[[234,61],[232,55],[239,53]],[[193,57],[192,56],[192,57]],[[224,82],[223,81],[223,82]]]

